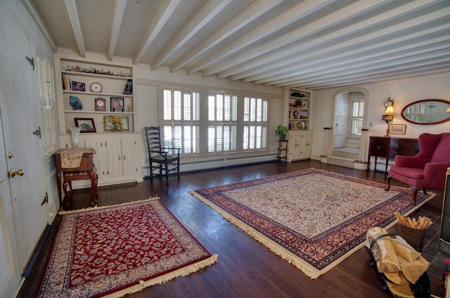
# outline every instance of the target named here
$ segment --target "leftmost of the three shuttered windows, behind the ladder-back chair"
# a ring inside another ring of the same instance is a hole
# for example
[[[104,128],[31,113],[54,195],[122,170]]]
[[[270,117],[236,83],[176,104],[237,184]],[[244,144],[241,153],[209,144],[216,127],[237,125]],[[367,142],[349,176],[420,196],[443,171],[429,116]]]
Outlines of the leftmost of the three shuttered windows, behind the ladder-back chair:
[[[164,147],[181,148],[181,154],[200,154],[200,92],[163,88]]]

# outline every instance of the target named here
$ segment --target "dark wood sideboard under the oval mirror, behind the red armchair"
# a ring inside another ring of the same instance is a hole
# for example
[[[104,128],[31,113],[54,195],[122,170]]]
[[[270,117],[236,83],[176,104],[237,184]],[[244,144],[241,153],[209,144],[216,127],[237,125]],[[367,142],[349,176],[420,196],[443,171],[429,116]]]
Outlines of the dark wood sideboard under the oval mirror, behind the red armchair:
[[[419,143],[417,139],[408,139],[406,137],[370,137],[368,144],[367,170],[371,168],[371,157],[375,157],[375,170],[377,167],[377,158],[386,158],[386,168],[390,158],[396,155],[414,156],[418,154]]]

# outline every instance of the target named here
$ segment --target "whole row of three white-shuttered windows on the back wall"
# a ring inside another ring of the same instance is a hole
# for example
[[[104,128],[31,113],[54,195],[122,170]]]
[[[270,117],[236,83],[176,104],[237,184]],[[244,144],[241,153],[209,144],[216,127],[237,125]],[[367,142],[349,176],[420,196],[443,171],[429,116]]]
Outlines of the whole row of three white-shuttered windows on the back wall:
[[[198,90],[162,88],[165,147],[181,147],[185,156],[267,149],[268,100],[211,90],[200,107],[200,96]]]

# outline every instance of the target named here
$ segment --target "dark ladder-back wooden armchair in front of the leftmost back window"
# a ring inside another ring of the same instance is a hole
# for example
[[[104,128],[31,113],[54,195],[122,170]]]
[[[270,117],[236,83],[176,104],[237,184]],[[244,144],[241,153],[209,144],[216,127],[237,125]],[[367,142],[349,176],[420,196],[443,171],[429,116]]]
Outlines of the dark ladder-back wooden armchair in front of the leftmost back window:
[[[146,127],[146,138],[148,161],[150,162],[150,181],[153,181],[153,175],[158,175],[153,172],[158,168],[160,169],[159,176],[162,176],[162,172],[164,172],[166,185],[169,184],[169,172],[176,171],[176,175],[180,179],[181,148],[162,147],[159,126]]]

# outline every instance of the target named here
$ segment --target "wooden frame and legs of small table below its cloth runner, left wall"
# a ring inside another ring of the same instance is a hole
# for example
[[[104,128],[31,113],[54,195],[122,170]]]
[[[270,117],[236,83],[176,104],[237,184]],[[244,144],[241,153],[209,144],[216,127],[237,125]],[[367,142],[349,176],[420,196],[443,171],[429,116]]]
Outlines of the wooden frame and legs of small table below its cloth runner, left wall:
[[[98,183],[98,174],[96,167],[92,171],[71,171],[71,172],[63,172],[63,190],[65,197],[65,208],[69,207],[69,200],[73,199],[73,190],[72,190],[72,181],[75,180],[91,180],[91,207],[94,207],[97,204],[97,183]],[[68,187],[70,191],[68,191]]]

